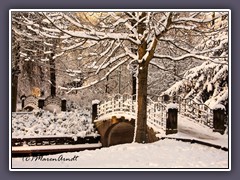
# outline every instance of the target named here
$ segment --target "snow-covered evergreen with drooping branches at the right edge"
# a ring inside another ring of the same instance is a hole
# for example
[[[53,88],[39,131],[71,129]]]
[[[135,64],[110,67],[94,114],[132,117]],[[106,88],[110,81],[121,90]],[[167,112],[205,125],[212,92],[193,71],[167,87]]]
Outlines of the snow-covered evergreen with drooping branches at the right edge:
[[[216,13],[213,13],[215,17]],[[215,19],[211,26],[213,29],[227,27],[228,18]],[[215,61],[205,61],[201,65],[191,68],[184,73],[183,78],[167,89],[163,94],[179,95],[182,98],[194,99],[197,103],[205,103],[210,108],[217,104],[225,105],[228,109],[228,28],[211,37],[204,38],[198,48],[208,51]],[[218,48],[214,48],[214,47]]]

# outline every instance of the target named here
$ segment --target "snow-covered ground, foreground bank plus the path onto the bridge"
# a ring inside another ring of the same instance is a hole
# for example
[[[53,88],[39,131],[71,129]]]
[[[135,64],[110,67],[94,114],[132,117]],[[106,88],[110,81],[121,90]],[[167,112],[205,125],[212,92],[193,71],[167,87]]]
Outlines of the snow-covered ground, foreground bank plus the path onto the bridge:
[[[179,116],[179,132],[167,137],[197,139],[228,147],[228,135],[213,133],[192,119]],[[158,134],[160,137],[166,137]],[[62,153],[43,157],[12,158],[12,168],[229,168],[229,152],[199,144],[176,140],[160,140],[150,144],[123,144],[97,150]],[[70,161],[71,160],[71,161]],[[80,170],[80,169],[78,169]]]

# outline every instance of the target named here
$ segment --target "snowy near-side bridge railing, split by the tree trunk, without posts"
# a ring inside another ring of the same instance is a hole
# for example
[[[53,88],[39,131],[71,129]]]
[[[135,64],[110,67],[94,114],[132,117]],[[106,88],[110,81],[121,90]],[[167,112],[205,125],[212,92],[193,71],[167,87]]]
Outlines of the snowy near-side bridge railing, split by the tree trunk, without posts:
[[[98,105],[97,120],[111,119],[112,116],[136,118],[136,98],[129,94],[117,94]],[[148,98],[147,123],[153,129],[166,130],[166,106]]]

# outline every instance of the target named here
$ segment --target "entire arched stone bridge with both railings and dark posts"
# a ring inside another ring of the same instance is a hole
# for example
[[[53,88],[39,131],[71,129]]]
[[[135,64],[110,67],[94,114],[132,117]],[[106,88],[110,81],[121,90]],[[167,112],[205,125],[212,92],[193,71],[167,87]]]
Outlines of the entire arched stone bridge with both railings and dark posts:
[[[131,95],[115,95],[105,101],[93,101],[92,120],[101,135],[103,146],[131,143],[134,138],[136,119],[136,98]],[[158,140],[155,136],[178,132],[178,113],[193,118],[215,132],[223,134],[227,126],[223,109],[210,109],[192,100],[162,97],[147,102],[147,139]]]

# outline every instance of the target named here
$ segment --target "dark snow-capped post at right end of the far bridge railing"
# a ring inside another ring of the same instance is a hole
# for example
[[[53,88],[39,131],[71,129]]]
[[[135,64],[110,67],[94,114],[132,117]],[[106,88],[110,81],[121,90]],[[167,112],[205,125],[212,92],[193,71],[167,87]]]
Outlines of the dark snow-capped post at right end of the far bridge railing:
[[[225,108],[221,106],[215,107],[213,110],[213,132],[219,132],[220,134],[224,134],[225,126]]]

